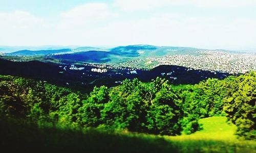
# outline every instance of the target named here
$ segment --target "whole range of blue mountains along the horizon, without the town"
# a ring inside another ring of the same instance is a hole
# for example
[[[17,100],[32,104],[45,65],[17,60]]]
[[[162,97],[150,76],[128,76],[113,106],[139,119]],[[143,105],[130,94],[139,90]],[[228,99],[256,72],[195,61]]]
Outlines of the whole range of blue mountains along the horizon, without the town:
[[[0,46],[1,47],[1,46]],[[154,45],[127,45],[108,47],[91,46],[70,46],[62,49],[41,49],[41,50],[19,50],[17,52],[5,54],[8,56],[48,56],[53,61],[62,61],[62,63],[72,62],[96,62],[96,63],[120,63],[129,60],[145,59],[148,57],[161,57],[172,55],[199,55],[199,51],[207,49],[198,49],[193,47],[175,47],[175,46],[154,46]],[[218,49],[216,51],[232,51]],[[1,52],[1,50],[0,50]],[[55,60],[57,59],[57,60]]]

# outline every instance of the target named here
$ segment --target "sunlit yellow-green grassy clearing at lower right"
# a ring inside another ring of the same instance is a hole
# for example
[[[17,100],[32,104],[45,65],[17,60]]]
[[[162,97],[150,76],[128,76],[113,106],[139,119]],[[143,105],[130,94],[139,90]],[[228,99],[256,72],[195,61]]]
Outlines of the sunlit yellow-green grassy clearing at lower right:
[[[227,123],[226,117],[200,119],[203,130],[191,135],[164,136],[181,152],[256,152],[256,141],[237,138],[236,125]]]

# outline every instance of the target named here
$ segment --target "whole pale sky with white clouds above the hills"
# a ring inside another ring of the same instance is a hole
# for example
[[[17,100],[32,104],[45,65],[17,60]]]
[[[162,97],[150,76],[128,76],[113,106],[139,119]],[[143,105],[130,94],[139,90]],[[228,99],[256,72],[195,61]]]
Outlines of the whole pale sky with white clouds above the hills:
[[[0,45],[256,50],[256,0],[0,0]]]

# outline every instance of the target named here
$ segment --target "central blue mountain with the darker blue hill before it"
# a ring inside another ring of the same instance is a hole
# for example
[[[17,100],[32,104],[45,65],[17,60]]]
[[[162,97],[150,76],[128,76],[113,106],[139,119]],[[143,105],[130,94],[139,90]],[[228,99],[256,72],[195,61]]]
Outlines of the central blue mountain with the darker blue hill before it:
[[[197,55],[197,51],[199,50],[191,47],[168,47],[153,45],[129,45],[118,46],[105,50],[100,49],[101,48],[94,47],[78,47],[72,50],[73,53],[53,55],[51,57],[60,60],[74,60],[80,62],[117,63],[125,62],[134,58],[147,58],[153,56],[159,57],[175,54]],[[80,50],[83,52],[79,52]]]

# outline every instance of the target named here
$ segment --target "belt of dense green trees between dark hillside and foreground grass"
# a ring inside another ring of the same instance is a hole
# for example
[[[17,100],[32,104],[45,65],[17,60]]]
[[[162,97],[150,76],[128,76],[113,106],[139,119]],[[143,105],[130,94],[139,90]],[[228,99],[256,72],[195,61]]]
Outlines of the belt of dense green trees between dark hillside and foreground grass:
[[[226,116],[239,139],[254,140],[256,72],[207,79],[195,85],[126,79],[84,94],[46,82],[0,75],[1,128],[119,131],[164,136],[202,130],[199,120]],[[6,127],[7,128],[7,127]],[[51,130],[50,130],[51,131]]]

